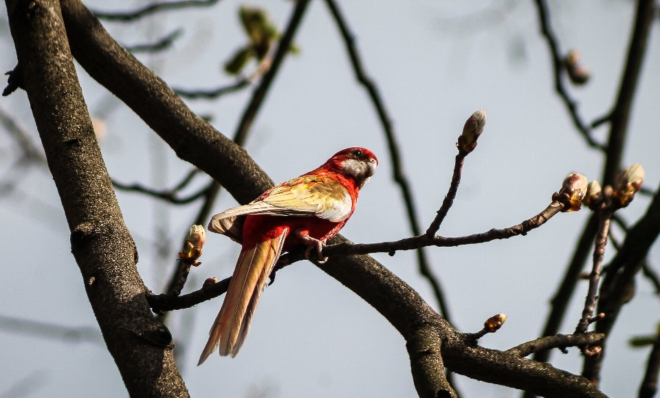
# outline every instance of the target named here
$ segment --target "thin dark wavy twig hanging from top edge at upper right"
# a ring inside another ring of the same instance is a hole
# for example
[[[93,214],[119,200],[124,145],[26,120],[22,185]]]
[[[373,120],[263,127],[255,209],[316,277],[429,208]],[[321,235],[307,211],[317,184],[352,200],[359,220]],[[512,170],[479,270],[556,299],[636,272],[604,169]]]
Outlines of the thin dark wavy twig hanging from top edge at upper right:
[[[566,105],[566,109],[568,109],[569,114],[571,115],[571,120],[573,120],[573,124],[575,124],[575,128],[577,131],[580,131],[580,134],[582,134],[582,137],[584,137],[586,143],[592,148],[605,151],[605,146],[599,142],[596,142],[591,136],[591,127],[588,126],[584,120],[582,120],[580,113],[577,112],[577,101],[571,98],[568,89],[564,85],[564,80],[562,79],[563,56],[559,48],[559,41],[557,36],[555,36],[555,33],[550,26],[548,5],[544,0],[535,0],[535,3],[538,11],[538,20],[541,25],[541,33],[543,36],[545,36],[548,42],[548,47],[550,48],[550,54],[552,56],[555,91],[557,91],[559,96],[562,98],[564,105]]]

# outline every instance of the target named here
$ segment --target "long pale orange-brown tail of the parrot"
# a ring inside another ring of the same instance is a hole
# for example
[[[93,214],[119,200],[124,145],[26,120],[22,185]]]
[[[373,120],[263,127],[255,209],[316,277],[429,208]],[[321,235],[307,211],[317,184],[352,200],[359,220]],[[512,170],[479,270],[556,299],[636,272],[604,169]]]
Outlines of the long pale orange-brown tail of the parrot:
[[[261,291],[282,253],[289,230],[284,228],[281,231],[278,236],[265,239],[251,248],[243,247],[241,250],[225,300],[211,327],[198,366],[217,348],[223,357],[231,355],[233,358],[239,353],[245,338],[248,337],[250,322],[259,304]]]

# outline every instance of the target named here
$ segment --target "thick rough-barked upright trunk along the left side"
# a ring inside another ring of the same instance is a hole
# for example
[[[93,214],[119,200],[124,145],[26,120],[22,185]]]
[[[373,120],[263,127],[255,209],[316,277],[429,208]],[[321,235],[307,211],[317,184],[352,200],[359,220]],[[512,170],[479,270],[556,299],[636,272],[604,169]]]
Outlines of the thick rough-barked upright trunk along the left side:
[[[103,338],[132,397],[188,397],[172,336],[153,319],[78,84],[60,4],[7,1],[25,91],[60,195],[72,253]]]

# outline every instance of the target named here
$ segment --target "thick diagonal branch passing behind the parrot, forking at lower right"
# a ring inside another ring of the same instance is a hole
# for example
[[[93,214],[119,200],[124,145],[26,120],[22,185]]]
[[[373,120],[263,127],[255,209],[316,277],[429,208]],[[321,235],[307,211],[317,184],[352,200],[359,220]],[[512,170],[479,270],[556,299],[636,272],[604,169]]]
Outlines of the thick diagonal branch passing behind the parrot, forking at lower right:
[[[130,54],[119,50],[82,3],[76,0],[62,3],[74,54],[83,53],[85,48],[85,54],[80,54],[80,64],[129,104],[175,148],[177,155],[216,178],[239,203],[254,199],[272,186],[270,178],[245,151],[196,118],[162,80]],[[83,29],[85,26],[91,32]],[[80,35],[76,37],[76,33]],[[168,116],[168,112],[176,117]],[[162,122],[164,119],[166,122]],[[335,236],[329,243],[350,244],[342,236]],[[547,397],[604,397],[582,377],[547,364],[466,344],[460,333],[439,317],[417,292],[369,256],[331,258],[327,264],[318,266],[382,313],[406,338],[413,379],[423,381],[416,383],[421,397],[452,394],[443,377],[443,364],[467,377],[531,389]]]

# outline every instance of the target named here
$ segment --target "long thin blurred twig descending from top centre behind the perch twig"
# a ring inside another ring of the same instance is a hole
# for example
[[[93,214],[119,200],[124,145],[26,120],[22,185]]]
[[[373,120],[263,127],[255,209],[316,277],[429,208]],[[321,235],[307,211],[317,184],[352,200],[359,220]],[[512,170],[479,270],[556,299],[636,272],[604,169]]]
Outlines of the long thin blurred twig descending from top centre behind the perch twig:
[[[406,174],[404,173],[403,162],[401,161],[401,151],[399,150],[399,144],[397,143],[397,137],[392,126],[391,118],[385,109],[385,105],[375,82],[373,82],[373,79],[366,74],[364,67],[362,67],[362,59],[360,58],[360,54],[358,54],[358,49],[355,47],[355,35],[351,32],[337,3],[334,0],[326,0],[326,4],[339,27],[342,38],[344,39],[344,45],[346,45],[346,50],[351,59],[351,66],[355,72],[355,78],[364,86],[367,93],[369,93],[369,98],[371,98],[371,102],[378,113],[378,118],[382,124],[387,139],[390,157],[392,159],[393,179],[401,189],[401,195],[403,196],[406,205],[406,212],[408,214],[410,231],[413,235],[417,236],[421,234],[419,217],[417,215],[417,208],[415,208],[415,201],[412,199],[412,190],[410,188],[410,183],[408,182],[408,177],[406,177]],[[428,257],[426,256],[426,251],[421,247],[417,250],[417,264],[419,267],[419,273],[428,280],[433,289],[441,316],[451,322],[448,305],[445,301],[445,294],[437,276],[434,276],[432,272]]]

